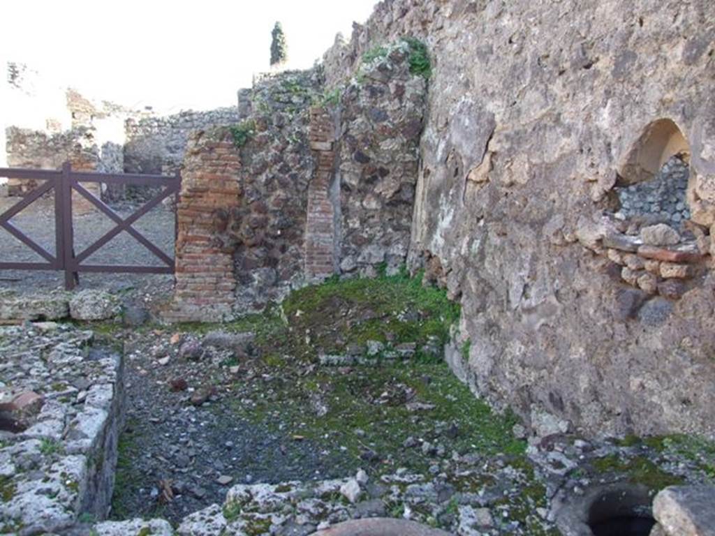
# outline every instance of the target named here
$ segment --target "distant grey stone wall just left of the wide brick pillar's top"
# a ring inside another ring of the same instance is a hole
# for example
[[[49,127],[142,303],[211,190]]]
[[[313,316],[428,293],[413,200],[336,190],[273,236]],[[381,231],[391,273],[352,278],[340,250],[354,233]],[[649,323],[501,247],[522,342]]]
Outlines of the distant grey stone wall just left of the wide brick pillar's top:
[[[169,116],[129,117],[124,145],[127,173],[174,173],[184,158],[189,133],[240,119],[236,107],[182,111]]]

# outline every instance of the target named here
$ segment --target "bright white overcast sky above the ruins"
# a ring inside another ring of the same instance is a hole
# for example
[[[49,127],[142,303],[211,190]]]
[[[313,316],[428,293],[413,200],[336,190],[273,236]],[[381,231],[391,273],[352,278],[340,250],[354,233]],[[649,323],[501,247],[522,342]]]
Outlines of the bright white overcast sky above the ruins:
[[[208,109],[267,71],[280,21],[302,69],[377,0],[2,0],[0,57],[129,106]]]

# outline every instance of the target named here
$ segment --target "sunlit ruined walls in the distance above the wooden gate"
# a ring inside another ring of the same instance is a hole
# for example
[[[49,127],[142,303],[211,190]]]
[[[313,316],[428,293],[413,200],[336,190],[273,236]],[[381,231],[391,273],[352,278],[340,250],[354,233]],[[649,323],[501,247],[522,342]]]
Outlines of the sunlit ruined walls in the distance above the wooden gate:
[[[138,110],[88,99],[14,62],[6,64],[1,88],[0,165],[9,167],[59,169],[70,162],[87,171],[175,174],[191,131],[239,119],[237,106],[162,115],[149,106]],[[11,179],[6,194],[21,195],[32,187]],[[108,185],[102,191],[109,201],[137,195]]]

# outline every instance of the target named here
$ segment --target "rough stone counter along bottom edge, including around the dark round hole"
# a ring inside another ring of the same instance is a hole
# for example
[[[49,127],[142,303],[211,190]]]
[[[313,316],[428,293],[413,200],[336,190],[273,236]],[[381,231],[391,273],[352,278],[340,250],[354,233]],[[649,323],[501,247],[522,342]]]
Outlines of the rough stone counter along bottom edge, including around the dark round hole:
[[[654,536],[712,534],[708,530],[715,526],[711,524],[715,488],[688,457],[645,444],[624,446],[563,434],[534,436],[530,444],[529,457],[538,480],[546,485],[548,503],[541,492],[524,497],[528,471],[513,464],[508,455],[430,454],[423,448],[425,456],[433,458],[425,475],[402,469],[373,479],[360,470],[354,477],[334,480],[235,485],[223,505],[210,505],[185,517],[175,532],[159,519],[102,522],[94,525],[94,531],[99,536],[142,530],[167,536],[307,536],[346,520],[393,517],[437,524],[459,536],[533,535],[555,526],[571,534],[573,527],[561,525],[572,519],[563,510],[588,490],[618,483],[658,485],[654,479],[659,477],[690,484],[666,487],[657,495],[654,517],[660,525]],[[639,467],[639,472],[631,474],[627,467]],[[528,526],[515,519],[520,510],[526,512]]]

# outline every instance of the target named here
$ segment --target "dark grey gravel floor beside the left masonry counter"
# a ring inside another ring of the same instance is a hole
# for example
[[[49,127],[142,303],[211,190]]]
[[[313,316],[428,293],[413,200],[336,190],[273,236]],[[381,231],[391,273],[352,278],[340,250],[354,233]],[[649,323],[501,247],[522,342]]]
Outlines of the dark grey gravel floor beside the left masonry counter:
[[[221,504],[233,484],[344,477],[358,469],[339,447],[330,448],[331,442],[296,440],[298,423],[263,418],[257,410],[251,398],[256,386],[265,394],[273,391],[271,384],[285,387],[277,378],[285,370],[267,367],[258,357],[232,369],[227,363],[234,354],[212,347],[200,361],[179,357],[179,348],[190,342],[171,344],[169,332],[128,339],[127,430],[112,517],[162,515],[178,522]],[[177,390],[174,385],[182,380],[187,388]],[[235,405],[255,415],[235,411]],[[222,476],[230,482],[220,483]],[[170,500],[162,496],[167,485]]]

